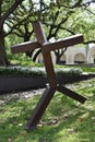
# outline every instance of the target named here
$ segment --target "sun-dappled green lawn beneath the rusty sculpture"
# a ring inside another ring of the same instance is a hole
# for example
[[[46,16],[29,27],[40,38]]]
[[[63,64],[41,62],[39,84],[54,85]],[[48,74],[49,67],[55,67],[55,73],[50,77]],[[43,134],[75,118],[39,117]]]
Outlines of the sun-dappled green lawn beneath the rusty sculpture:
[[[69,87],[87,97],[85,104],[57,92],[38,128],[29,132],[24,127],[40,95],[0,96],[0,142],[95,142],[95,79]]]

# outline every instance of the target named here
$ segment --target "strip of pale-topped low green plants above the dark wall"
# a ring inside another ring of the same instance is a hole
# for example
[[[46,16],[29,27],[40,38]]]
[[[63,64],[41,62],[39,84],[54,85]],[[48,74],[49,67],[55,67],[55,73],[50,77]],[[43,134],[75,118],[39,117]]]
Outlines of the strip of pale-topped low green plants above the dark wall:
[[[56,68],[57,75],[73,76],[80,75],[82,70],[80,68]],[[0,75],[17,75],[17,76],[46,76],[44,67],[0,67]]]

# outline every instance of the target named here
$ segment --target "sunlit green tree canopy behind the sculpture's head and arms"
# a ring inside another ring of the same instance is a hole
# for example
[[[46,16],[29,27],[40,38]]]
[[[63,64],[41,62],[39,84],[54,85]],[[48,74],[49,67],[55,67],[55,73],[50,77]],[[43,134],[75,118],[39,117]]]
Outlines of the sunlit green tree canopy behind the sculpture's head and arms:
[[[3,0],[0,3],[3,38],[7,37],[5,46],[10,60],[11,45],[35,39],[32,24],[36,20],[43,23],[48,39],[63,38],[76,33],[82,33],[85,42],[95,39],[95,8],[85,0],[25,0],[2,22],[3,14],[8,14],[7,11],[14,2]]]

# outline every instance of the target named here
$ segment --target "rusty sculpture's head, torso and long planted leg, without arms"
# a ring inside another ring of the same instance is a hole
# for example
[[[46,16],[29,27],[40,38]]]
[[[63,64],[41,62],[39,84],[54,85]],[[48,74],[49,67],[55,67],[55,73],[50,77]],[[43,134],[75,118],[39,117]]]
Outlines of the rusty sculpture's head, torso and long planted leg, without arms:
[[[40,45],[43,45],[46,42],[46,37],[44,35],[40,23],[39,22],[34,23],[33,27],[34,27],[34,32],[35,32],[35,35],[36,35],[38,43],[40,43]],[[40,46],[40,48],[41,48],[41,46]],[[43,51],[43,48],[41,48],[41,51]],[[47,108],[49,102],[51,100],[51,98],[56,92],[56,87],[57,87],[56,74],[55,74],[50,52],[43,52],[43,57],[44,57],[44,61],[45,61],[49,86],[44,92],[40,100],[38,102],[35,110],[29,119],[29,121],[27,122],[26,128],[25,128],[26,130],[32,130],[32,129],[36,128],[45,109]]]

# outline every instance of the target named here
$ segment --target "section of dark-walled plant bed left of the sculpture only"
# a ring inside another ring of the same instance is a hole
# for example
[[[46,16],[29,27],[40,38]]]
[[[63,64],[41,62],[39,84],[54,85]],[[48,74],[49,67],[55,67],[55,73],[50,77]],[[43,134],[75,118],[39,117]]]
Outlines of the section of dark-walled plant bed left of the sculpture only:
[[[0,94],[45,87],[45,71],[40,68],[0,67]]]

